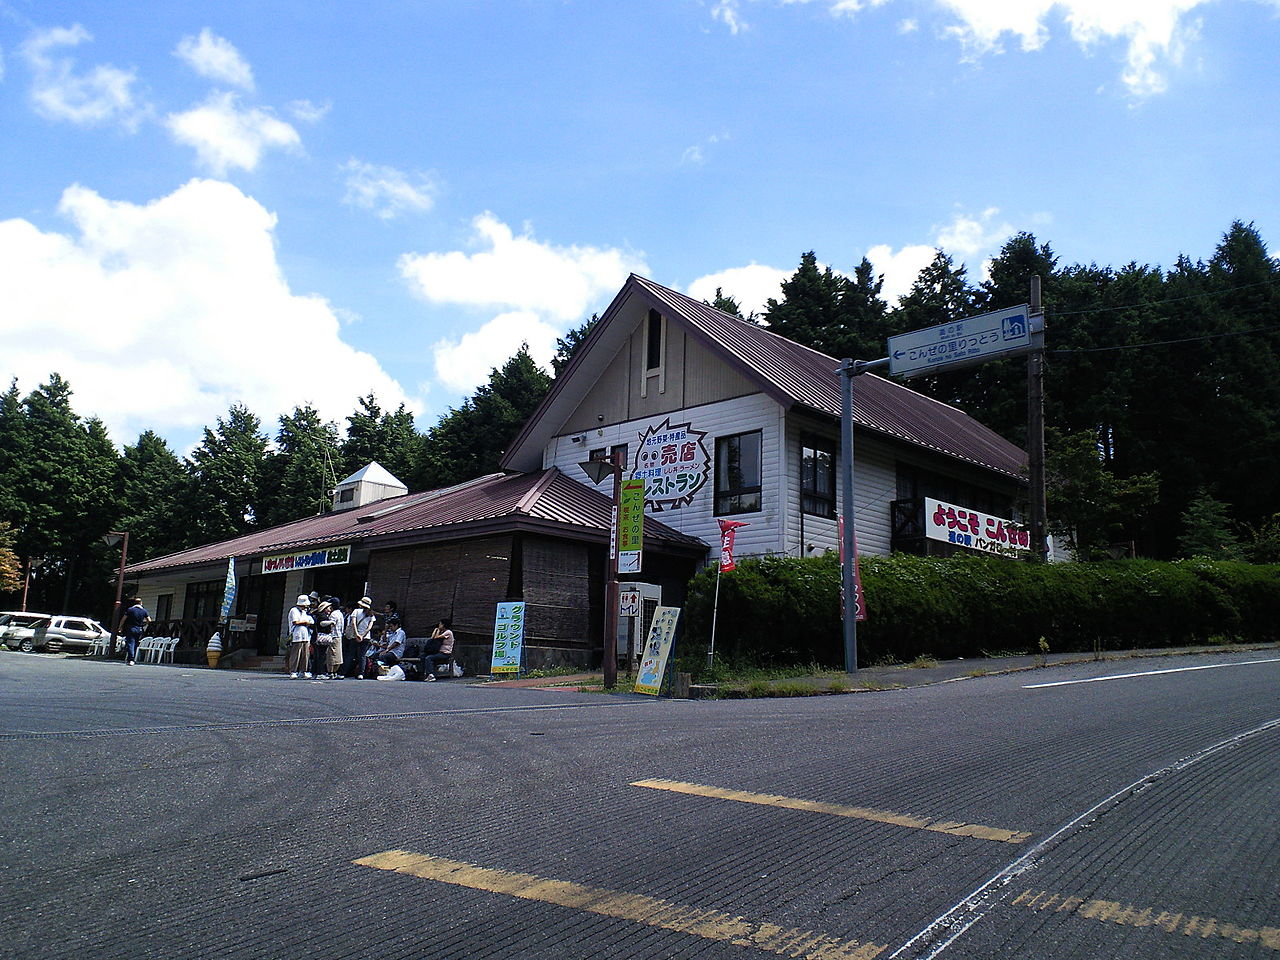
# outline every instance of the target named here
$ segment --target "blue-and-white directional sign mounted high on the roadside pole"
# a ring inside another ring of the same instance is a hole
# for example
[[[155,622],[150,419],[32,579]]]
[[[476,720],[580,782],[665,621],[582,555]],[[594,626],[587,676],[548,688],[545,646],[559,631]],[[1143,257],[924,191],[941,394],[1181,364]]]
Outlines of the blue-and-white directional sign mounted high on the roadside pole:
[[[888,338],[888,371],[919,376],[1030,353],[1044,343],[1044,320],[1030,307],[1006,307]]]

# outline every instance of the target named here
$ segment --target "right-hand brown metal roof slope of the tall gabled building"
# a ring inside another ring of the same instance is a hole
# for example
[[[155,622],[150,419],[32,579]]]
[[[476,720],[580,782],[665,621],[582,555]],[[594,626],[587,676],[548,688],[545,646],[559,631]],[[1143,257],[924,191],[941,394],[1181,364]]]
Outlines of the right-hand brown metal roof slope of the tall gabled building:
[[[733,366],[780,403],[799,403],[840,419],[838,360],[643,276],[632,274],[627,283],[663,307],[668,319],[684,320],[698,339],[727,355]],[[1027,453],[1016,444],[952,406],[874,374],[854,380],[854,422],[1010,477],[1025,479]]]

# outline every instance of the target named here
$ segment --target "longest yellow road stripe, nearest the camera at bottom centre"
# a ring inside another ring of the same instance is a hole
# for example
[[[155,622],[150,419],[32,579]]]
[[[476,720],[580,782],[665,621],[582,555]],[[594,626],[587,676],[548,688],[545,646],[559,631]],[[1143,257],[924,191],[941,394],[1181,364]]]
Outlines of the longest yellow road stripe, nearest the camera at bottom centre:
[[[808,957],[808,960],[873,960],[884,952],[884,947],[877,943],[836,940],[820,933],[778,927],[773,923],[755,923],[721,910],[701,910],[639,893],[625,893],[617,890],[586,887],[570,881],[535,877],[531,873],[494,870],[458,860],[445,860],[440,856],[413,854],[407,850],[388,850],[362,856],[353,863],[360,867],[392,870],[471,890],[506,893],[521,900],[586,910],[602,916],[632,920],[648,927],[689,933],[704,940],[724,941],[741,947],[756,947],[782,956]]]

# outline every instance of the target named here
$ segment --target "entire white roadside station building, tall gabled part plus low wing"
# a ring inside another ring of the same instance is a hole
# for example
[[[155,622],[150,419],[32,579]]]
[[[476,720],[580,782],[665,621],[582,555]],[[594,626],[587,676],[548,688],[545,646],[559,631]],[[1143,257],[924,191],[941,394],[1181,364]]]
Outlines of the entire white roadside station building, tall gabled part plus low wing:
[[[143,602],[201,644],[228,558],[239,643],[274,653],[288,603],[312,589],[380,607],[411,636],[440,617],[472,668],[488,664],[495,604],[525,600],[527,667],[598,663],[611,500],[580,466],[617,457],[646,481],[644,554],[627,580],[680,604],[719,540],[737,553],[837,548],[838,360],[632,275],[503,457],[504,472],[425,493],[376,463],[338,484],[319,517],[128,568]],[[1025,454],[961,411],[876,375],[855,380],[855,516],[863,553],[934,552],[924,498],[1012,517]]]

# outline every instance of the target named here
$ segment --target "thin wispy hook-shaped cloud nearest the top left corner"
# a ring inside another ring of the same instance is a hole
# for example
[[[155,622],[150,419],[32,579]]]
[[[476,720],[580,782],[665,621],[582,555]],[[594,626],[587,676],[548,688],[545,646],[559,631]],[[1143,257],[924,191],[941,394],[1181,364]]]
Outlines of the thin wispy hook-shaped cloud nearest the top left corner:
[[[61,47],[79,46],[92,38],[78,23],[36,31],[27,38],[20,51],[33,74],[32,104],[38,114],[52,120],[84,127],[119,123],[125,129],[137,129],[148,108],[134,96],[133,70],[99,64],[77,73],[73,58],[55,55]]]

